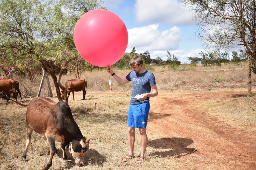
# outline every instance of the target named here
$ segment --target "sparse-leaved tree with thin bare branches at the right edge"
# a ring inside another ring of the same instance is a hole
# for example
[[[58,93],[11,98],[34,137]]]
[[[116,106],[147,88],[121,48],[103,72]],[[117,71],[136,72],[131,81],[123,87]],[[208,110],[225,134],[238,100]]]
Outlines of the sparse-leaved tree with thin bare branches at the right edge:
[[[251,94],[251,70],[256,74],[255,0],[184,0],[194,12],[197,35],[206,45],[230,49],[243,46],[248,51],[248,94]]]

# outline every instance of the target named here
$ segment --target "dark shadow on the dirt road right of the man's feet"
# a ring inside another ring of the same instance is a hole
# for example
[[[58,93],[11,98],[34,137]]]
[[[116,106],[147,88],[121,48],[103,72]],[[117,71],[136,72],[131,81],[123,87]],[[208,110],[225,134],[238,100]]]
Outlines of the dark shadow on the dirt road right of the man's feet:
[[[191,139],[186,138],[162,138],[162,139],[156,139],[148,141],[148,145],[156,148],[156,149],[168,149],[167,151],[162,152],[153,152],[150,155],[151,156],[157,156],[157,157],[168,157],[168,156],[174,156],[174,157],[182,157],[187,154],[192,154],[194,152],[197,152],[196,148],[189,148],[192,143],[194,143]]]

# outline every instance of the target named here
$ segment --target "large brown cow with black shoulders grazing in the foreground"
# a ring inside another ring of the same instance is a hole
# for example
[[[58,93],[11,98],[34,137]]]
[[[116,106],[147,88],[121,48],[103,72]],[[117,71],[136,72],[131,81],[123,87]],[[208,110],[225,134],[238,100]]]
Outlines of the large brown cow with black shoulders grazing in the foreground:
[[[7,98],[6,96],[0,97]],[[43,166],[43,170],[52,166],[52,159],[56,153],[55,140],[61,143],[64,160],[67,160],[65,147],[68,147],[76,164],[81,165],[83,163],[84,154],[89,150],[90,139],[86,139],[82,135],[66,102],[59,101],[56,103],[45,97],[36,97],[28,105],[16,103],[28,106],[26,113],[27,142],[22,156],[24,160],[26,160],[31,134],[34,130],[39,134],[44,134],[50,145],[50,159]]]

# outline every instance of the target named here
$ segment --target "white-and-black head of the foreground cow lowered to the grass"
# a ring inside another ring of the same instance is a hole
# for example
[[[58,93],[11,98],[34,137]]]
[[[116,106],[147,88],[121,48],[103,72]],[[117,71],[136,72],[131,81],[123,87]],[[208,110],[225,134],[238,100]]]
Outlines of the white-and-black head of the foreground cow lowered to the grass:
[[[77,165],[82,165],[84,161],[84,155],[89,150],[90,139],[85,137],[80,141],[74,140],[69,143],[69,153],[72,154]]]

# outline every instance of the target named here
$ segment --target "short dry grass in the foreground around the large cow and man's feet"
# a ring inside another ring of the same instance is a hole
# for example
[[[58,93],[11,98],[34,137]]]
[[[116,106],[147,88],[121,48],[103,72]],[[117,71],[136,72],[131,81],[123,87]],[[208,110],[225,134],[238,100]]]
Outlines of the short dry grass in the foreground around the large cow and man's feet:
[[[76,95],[82,98],[81,94]],[[57,102],[56,98],[52,98]],[[83,135],[90,138],[90,151],[85,156],[82,167],[75,166],[72,162],[68,150],[67,156],[71,161],[65,163],[62,160],[60,143],[56,142],[58,150],[57,156],[53,158],[51,169],[136,169],[135,159],[127,163],[121,163],[121,158],[128,152],[127,146],[127,109],[130,97],[125,93],[91,93],[86,96],[86,100],[70,100],[69,105],[75,121],[77,122]],[[23,100],[24,102],[28,100]],[[43,135],[35,132],[32,134],[32,145],[27,153],[29,161],[21,160],[26,143],[26,107],[13,104],[13,102],[1,103],[0,119],[0,169],[41,169],[49,158],[47,152],[49,146]],[[94,106],[96,104],[96,114]],[[4,111],[4,112],[3,112]],[[138,130],[137,130],[138,132]],[[136,134],[135,156],[140,155],[139,135]],[[148,134],[149,141],[156,137]],[[174,158],[161,158],[154,155],[166,149],[154,148],[149,146],[147,162],[140,166],[140,169],[177,169],[179,164],[175,163]],[[151,154],[151,156],[150,156]]]

